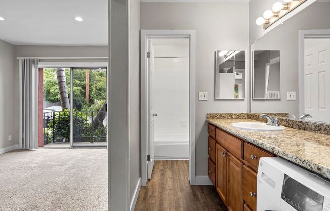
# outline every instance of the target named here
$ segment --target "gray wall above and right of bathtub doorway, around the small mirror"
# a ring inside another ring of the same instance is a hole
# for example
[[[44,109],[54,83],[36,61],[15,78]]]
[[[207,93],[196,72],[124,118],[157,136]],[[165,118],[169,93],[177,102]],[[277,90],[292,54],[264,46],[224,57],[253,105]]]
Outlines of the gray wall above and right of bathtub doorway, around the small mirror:
[[[196,175],[208,175],[206,114],[247,112],[248,109],[248,99],[214,99],[214,52],[247,50],[248,4],[142,2],[140,25],[141,29],[196,30]],[[208,101],[198,101],[198,91],[207,91]]]

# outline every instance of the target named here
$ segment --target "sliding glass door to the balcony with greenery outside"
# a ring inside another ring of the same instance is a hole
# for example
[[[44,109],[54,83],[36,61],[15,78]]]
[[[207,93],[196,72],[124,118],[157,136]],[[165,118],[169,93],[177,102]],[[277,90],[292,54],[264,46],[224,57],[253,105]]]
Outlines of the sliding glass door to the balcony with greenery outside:
[[[39,147],[106,148],[107,67],[72,66],[39,65]]]

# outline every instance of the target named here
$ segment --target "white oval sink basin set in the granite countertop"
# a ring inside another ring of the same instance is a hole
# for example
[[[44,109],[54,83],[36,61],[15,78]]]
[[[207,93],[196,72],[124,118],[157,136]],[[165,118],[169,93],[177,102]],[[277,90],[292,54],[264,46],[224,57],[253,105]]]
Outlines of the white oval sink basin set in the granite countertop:
[[[283,126],[271,126],[261,122],[236,122],[232,123],[231,126],[242,130],[253,131],[281,131],[286,129]]]

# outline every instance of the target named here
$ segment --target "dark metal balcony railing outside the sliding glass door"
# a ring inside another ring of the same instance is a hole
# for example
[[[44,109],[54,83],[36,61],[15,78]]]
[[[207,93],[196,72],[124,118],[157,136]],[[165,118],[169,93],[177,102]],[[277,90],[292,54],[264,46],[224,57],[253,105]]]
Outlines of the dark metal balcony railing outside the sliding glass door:
[[[69,142],[70,111],[44,112],[44,145]],[[73,142],[106,142],[106,111],[74,111]]]

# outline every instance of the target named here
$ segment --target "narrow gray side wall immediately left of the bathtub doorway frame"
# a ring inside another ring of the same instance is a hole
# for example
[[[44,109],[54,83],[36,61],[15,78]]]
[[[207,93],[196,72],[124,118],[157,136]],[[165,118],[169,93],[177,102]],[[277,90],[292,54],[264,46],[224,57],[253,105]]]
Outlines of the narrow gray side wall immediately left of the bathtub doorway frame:
[[[130,1],[129,28],[129,142],[130,142],[130,196],[134,197],[141,177],[140,151],[140,1]]]

